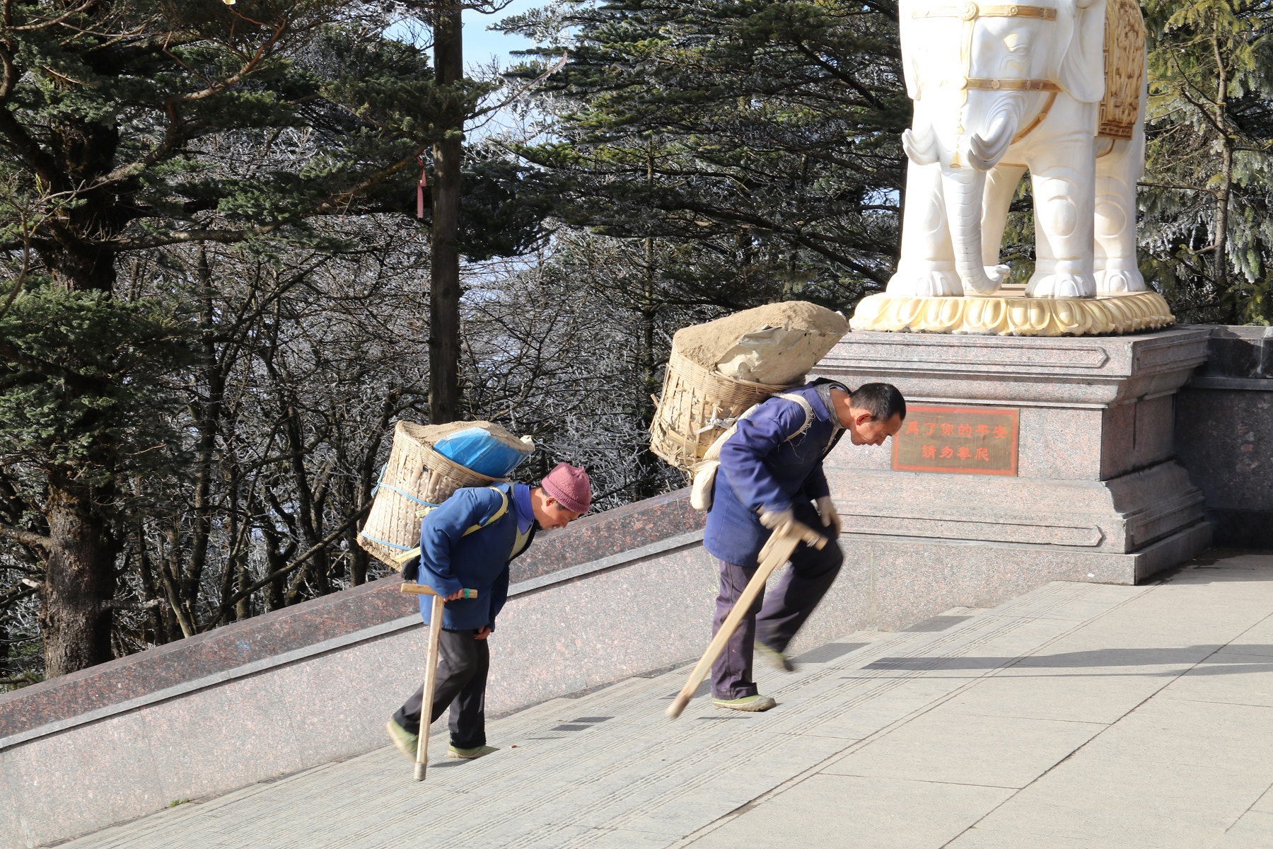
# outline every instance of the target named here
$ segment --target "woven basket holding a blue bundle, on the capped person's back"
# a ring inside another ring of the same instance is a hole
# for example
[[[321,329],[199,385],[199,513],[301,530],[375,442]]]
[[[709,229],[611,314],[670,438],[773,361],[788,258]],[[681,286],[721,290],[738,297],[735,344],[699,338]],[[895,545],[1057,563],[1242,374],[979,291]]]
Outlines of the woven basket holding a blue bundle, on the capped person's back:
[[[420,517],[425,508],[442,504],[462,486],[489,486],[504,480],[479,475],[443,457],[425,434],[424,425],[397,423],[372,512],[358,535],[358,545],[395,569],[402,568],[395,558],[420,545]]]

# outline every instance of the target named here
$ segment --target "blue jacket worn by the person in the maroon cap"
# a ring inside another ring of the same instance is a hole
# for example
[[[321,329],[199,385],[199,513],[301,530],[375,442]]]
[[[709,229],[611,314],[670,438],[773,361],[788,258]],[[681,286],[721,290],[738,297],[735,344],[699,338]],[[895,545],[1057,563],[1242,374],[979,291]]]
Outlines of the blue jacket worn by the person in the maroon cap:
[[[442,626],[453,630],[495,626],[495,617],[508,601],[508,564],[522,551],[517,542],[517,509],[513,484],[500,484],[508,495],[508,510],[479,531],[465,535],[475,524],[488,522],[503,499],[489,486],[457,489],[420,522],[420,574],[418,580],[439,596],[457,589],[476,589],[477,598],[448,601]],[[521,484],[517,484],[521,486]],[[535,524],[531,524],[533,537]],[[429,624],[430,596],[420,596],[420,616]]]

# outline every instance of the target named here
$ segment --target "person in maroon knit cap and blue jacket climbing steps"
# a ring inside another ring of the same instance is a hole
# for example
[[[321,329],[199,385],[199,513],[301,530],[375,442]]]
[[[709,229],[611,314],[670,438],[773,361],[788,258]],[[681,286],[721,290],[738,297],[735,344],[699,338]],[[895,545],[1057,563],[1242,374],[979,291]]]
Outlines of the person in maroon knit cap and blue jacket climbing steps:
[[[526,551],[537,530],[561,528],[588,510],[588,475],[559,463],[538,486],[499,484],[460,489],[420,522],[420,558],[404,578],[428,584],[447,600],[443,608],[438,682],[430,722],[451,708],[448,757],[481,757],[486,745],[486,638],[508,600],[508,564]],[[476,598],[461,598],[476,589]],[[432,596],[420,596],[429,624]],[[386,728],[415,760],[424,687],[398,708]]]

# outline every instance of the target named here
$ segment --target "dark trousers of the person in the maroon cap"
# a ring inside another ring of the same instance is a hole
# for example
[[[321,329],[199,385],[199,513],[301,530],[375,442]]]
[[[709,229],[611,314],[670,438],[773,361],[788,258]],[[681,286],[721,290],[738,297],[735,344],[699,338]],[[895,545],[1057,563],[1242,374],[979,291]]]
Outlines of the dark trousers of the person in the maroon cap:
[[[486,671],[490,668],[490,647],[474,638],[476,631],[442,629],[438,658],[438,684],[433,690],[432,724],[451,708],[451,745],[476,748],[486,745]],[[393,722],[412,734],[420,733],[420,708],[424,706],[424,685],[404,703]]]

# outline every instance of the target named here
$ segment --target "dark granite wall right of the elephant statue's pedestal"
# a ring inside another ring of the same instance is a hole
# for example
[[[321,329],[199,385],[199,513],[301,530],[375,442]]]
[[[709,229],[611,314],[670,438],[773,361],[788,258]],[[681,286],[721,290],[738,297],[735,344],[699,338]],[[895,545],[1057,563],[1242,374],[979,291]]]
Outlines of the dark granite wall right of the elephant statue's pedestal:
[[[1273,327],[1195,327],[1211,339],[1176,402],[1176,454],[1214,545],[1273,549]]]

